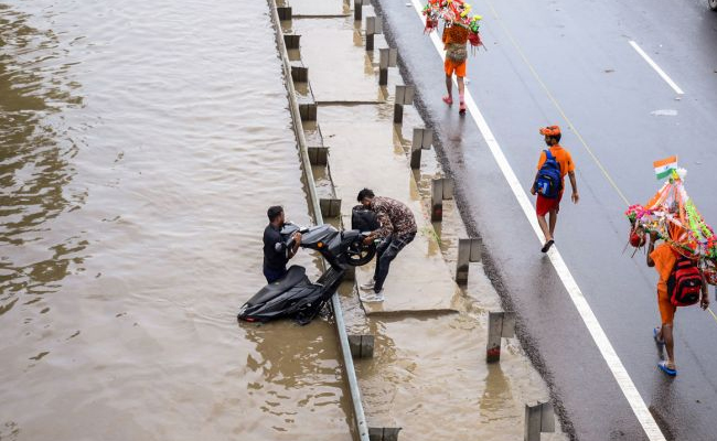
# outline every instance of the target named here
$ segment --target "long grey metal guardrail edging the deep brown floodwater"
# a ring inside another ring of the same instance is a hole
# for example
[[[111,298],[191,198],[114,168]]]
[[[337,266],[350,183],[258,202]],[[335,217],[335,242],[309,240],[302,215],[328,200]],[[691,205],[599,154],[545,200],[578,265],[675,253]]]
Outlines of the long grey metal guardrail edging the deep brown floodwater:
[[[309,198],[311,200],[311,208],[317,225],[321,225],[323,224],[323,217],[321,215],[321,208],[319,206],[319,196],[317,194],[317,187],[313,181],[313,172],[311,171],[311,162],[309,160],[307,140],[303,135],[303,125],[301,122],[301,116],[299,114],[299,103],[297,101],[296,90],[293,88],[293,82],[291,79],[291,65],[289,63],[289,54],[283,43],[283,31],[281,30],[281,22],[279,20],[279,15],[277,12],[277,3],[276,0],[267,0],[267,1],[269,4],[269,10],[271,11],[271,22],[275,28],[277,49],[281,57],[283,77],[285,77],[285,82],[289,95],[289,108],[291,110],[291,120],[293,122],[295,133],[299,142],[299,155],[301,157],[302,170],[303,170],[304,179],[307,181],[307,187],[309,189]],[[353,404],[354,419],[356,423],[358,439],[361,441],[368,441],[368,424],[366,423],[366,416],[364,413],[363,404],[361,401],[358,380],[356,379],[356,370],[354,368],[353,358],[351,356],[351,348],[349,346],[349,336],[346,334],[346,327],[343,320],[343,311],[341,309],[341,302],[339,300],[338,293],[334,293],[332,295],[331,305],[333,308],[333,313],[336,322],[336,331],[339,332],[339,341],[341,343],[341,352],[343,356],[344,370],[346,373],[346,379],[349,381],[349,388],[351,391],[351,400]]]

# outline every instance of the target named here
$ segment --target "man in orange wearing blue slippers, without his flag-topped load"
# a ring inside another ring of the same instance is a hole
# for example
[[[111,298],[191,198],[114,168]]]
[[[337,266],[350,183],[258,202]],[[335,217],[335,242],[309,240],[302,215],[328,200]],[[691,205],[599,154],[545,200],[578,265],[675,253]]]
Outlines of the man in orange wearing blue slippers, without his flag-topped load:
[[[673,226],[670,230],[670,236],[673,240],[679,241],[682,229]],[[662,243],[655,248],[657,241],[657,234],[650,233],[650,245],[648,246],[648,266],[654,267],[660,275],[657,281],[657,306],[660,308],[661,326],[652,331],[653,338],[660,348],[663,346],[667,352],[667,358],[657,363],[657,367],[670,376],[677,375],[677,366],[675,364],[675,343],[673,336],[673,327],[675,320],[675,306],[670,300],[667,283],[670,278],[673,277],[675,266],[677,265],[678,255],[672,246],[667,243]],[[703,279],[702,295],[699,299],[699,306],[706,310],[709,306],[709,297],[707,295],[707,283]]]

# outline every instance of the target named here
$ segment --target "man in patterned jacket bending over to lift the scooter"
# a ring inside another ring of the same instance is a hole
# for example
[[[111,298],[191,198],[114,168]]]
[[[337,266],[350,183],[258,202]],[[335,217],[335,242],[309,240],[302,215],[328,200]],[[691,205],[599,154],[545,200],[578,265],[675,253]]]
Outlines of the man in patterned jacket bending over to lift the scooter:
[[[373,291],[370,295],[361,295],[364,302],[384,301],[384,282],[388,276],[390,262],[402,249],[416,237],[416,218],[406,204],[389,197],[374,195],[368,189],[358,192],[356,200],[367,209],[376,213],[381,228],[374,230],[364,239],[371,244],[376,238],[382,238],[376,249],[376,269],[374,278],[368,283],[361,286],[364,291]]]

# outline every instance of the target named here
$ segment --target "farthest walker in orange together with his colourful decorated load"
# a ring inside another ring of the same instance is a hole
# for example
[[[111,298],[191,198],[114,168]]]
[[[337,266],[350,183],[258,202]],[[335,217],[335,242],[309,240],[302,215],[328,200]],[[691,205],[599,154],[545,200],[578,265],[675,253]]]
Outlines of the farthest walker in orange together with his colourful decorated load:
[[[481,15],[471,15],[472,7],[462,0],[429,0],[424,8],[426,17],[425,33],[430,33],[438,28],[440,20],[443,21],[443,50],[446,51],[446,61],[443,69],[446,71],[446,89],[448,95],[442,99],[448,106],[453,105],[453,83],[452,77],[456,74],[458,83],[459,112],[465,114],[464,90],[465,67],[468,58],[467,45],[470,42],[473,51],[483,45],[480,35]]]

